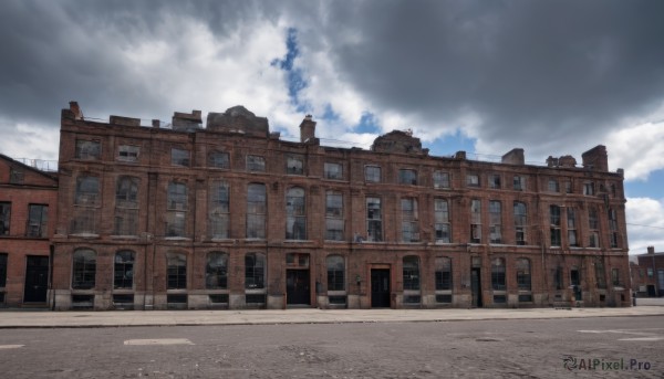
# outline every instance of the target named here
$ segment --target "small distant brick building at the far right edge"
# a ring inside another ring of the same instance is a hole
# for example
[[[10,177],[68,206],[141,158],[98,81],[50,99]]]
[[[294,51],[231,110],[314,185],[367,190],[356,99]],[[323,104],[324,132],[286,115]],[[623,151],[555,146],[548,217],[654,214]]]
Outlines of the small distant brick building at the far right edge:
[[[631,262],[632,288],[639,297],[664,296],[664,252],[655,253],[654,246],[647,253],[635,256]]]

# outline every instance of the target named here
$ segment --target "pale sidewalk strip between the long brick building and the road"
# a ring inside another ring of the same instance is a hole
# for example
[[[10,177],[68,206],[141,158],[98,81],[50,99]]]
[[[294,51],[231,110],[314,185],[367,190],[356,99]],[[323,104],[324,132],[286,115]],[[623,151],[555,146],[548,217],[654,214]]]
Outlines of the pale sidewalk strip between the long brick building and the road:
[[[415,323],[496,319],[664,316],[661,302],[629,308],[318,309],[283,310],[0,310],[2,328],[93,328],[261,324]],[[637,303],[639,304],[639,303]]]

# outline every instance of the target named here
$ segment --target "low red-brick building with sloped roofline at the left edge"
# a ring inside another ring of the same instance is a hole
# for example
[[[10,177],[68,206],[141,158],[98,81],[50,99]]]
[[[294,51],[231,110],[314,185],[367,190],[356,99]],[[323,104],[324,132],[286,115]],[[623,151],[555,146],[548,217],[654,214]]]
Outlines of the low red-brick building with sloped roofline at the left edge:
[[[48,306],[58,177],[0,154],[0,306]]]

